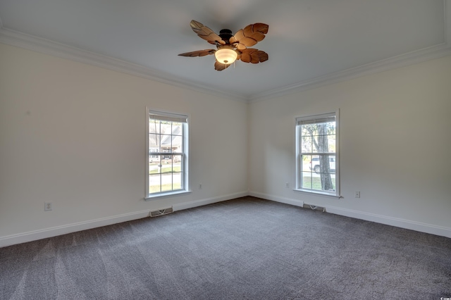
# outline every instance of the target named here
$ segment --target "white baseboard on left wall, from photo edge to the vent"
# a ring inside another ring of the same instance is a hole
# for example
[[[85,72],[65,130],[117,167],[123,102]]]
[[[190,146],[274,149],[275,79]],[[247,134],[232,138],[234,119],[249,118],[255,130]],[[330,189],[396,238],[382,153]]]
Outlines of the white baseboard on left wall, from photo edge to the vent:
[[[149,216],[149,210],[138,211],[135,213],[125,213],[123,215],[113,215],[111,217],[99,218],[96,220],[89,220],[80,223],[72,223],[56,227],[50,227],[42,230],[34,230],[30,232],[20,233],[18,235],[8,235],[0,237],[0,248],[11,246],[13,244],[20,244],[25,242],[32,242],[38,239],[47,239],[47,237],[56,237],[57,235],[66,235],[71,232],[78,232],[81,230],[88,230],[96,227],[106,225],[113,225],[116,223],[123,223],[131,220],[146,218]]]

